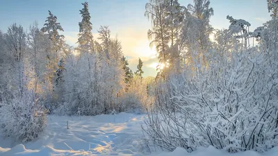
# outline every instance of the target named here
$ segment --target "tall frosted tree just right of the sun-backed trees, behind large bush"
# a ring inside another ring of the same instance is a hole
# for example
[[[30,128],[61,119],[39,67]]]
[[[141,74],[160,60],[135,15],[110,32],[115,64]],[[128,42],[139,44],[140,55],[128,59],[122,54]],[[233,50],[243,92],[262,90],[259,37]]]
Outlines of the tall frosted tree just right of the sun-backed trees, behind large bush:
[[[213,8],[208,0],[195,0],[186,10],[181,38],[186,44],[186,65],[193,65],[196,72],[202,73],[207,67],[209,51],[211,50],[211,35],[213,28],[209,24]]]

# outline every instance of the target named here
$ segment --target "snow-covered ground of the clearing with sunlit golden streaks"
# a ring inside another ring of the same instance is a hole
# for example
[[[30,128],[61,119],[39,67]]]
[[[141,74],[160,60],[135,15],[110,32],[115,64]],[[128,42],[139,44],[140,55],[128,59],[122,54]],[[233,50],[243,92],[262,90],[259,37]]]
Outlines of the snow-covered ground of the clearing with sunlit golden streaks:
[[[144,123],[144,118],[144,115],[127,113],[81,117],[48,116],[48,126],[44,134],[34,141],[16,145],[10,139],[0,139],[0,155],[144,155],[142,153],[144,149],[140,148],[141,125]],[[177,148],[172,153],[152,153],[152,156],[154,155],[259,156],[261,154],[252,151],[228,154],[209,147],[199,148],[193,153]],[[263,156],[277,155],[278,148],[263,154]]]

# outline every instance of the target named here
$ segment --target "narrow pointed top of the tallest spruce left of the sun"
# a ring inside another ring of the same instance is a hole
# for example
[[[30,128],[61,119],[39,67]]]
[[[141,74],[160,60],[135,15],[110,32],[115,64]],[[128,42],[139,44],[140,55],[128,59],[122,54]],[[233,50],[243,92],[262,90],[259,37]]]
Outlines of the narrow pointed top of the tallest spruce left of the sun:
[[[92,23],[90,22],[90,12],[88,2],[82,3],[83,9],[79,10],[82,16],[82,21],[79,22],[79,50],[83,52],[94,51],[94,40],[92,36]]]

